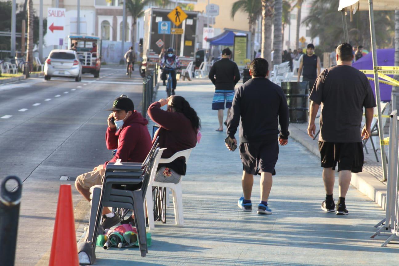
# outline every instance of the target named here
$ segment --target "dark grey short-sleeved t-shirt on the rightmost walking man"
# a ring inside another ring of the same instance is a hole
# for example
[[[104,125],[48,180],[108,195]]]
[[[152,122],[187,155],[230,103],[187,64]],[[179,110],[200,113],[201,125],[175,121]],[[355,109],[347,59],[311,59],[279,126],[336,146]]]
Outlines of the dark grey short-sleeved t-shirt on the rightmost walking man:
[[[309,99],[322,105],[319,141],[361,142],[363,107],[376,106],[366,75],[348,65],[324,69]]]

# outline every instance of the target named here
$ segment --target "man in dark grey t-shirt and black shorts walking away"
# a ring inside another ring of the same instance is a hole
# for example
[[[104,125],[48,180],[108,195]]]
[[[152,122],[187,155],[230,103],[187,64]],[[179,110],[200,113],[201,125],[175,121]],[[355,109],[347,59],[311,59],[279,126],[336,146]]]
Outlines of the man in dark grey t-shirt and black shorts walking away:
[[[322,209],[328,213],[347,215],[345,197],[352,173],[363,168],[363,140],[371,134],[371,120],[375,99],[370,83],[363,73],[352,67],[352,46],[342,43],[337,47],[337,65],[324,69],[316,80],[309,99],[310,118],[308,134],[313,138],[316,131],[314,120],[320,104],[319,151],[326,199]],[[366,123],[361,130],[361,118],[365,108]],[[334,170],[338,163],[339,198],[337,209],[332,197]]]

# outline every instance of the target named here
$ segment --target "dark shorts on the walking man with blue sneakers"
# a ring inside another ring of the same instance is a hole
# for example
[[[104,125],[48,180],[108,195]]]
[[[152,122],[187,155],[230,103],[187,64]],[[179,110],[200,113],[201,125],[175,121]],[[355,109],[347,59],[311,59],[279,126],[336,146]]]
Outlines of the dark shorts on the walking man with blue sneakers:
[[[252,175],[260,175],[263,172],[275,175],[275,166],[279,158],[279,142],[265,140],[240,143],[240,157],[245,172]]]

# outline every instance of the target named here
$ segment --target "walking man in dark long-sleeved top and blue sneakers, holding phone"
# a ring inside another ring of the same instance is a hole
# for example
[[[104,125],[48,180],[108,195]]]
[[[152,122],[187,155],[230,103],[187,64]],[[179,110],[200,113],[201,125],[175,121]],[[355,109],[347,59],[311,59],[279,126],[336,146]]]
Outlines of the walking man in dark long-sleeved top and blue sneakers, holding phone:
[[[289,135],[287,101],[281,87],[266,78],[269,75],[268,68],[269,64],[263,58],[252,61],[249,69],[252,79],[235,92],[233,107],[227,120],[227,136],[237,145],[234,135],[241,117],[239,150],[244,170],[244,197],[238,200],[238,207],[243,211],[252,211],[253,175],[260,174],[259,214],[272,214],[267,205],[273,183],[272,175],[276,174],[279,143],[286,145]],[[228,144],[226,146],[231,150]]]

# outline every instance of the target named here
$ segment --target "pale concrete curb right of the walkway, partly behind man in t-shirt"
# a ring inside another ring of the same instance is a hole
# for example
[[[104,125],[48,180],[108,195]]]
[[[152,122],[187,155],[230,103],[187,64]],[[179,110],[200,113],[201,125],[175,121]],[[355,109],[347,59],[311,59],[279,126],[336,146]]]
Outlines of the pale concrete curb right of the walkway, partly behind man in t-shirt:
[[[296,140],[296,142],[299,142],[302,146],[320,158],[318,142],[316,140],[312,140],[308,136],[307,132],[300,130],[295,126],[295,124],[290,124],[289,128],[290,136]],[[385,210],[387,186],[384,183],[381,183],[366,171],[361,173],[352,173],[350,183],[358,189],[358,191],[369,197],[369,199]]]

